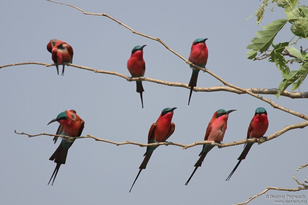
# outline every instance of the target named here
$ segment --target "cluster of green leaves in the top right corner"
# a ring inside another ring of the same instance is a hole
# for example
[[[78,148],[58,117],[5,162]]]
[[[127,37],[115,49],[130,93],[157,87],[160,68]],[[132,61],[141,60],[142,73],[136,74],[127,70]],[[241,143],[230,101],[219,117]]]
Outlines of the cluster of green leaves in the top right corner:
[[[257,55],[262,53],[263,56],[269,57],[268,61],[274,62],[276,67],[282,72],[283,80],[278,86],[277,97],[286,90],[287,87],[292,85],[292,90],[298,89],[302,82],[305,80],[308,74],[308,54],[304,50],[299,51],[292,45],[296,45],[298,40],[306,38],[308,40],[308,6],[299,6],[298,0],[263,0],[263,3],[256,11],[257,24],[259,24],[264,16],[265,8],[270,4],[284,8],[286,18],[278,19],[274,22],[264,26],[263,30],[257,31],[256,36],[251,40],[246,48],[249,49],[247,52],[247,58],[256,60]],[[296,41],[279,42],[274,44],[273,41],[277,36],[278,32],[290,23],[290,31],[294,34],[294,37],[298,37]],[[269,54],[266,54],[269,52]],[[261,58],[264,59],[264,58]],[[260,59],[258,59],[260,60]],[[299,69],[290,71],[288,63],[297,62],[299,63]]]

